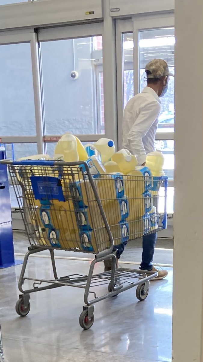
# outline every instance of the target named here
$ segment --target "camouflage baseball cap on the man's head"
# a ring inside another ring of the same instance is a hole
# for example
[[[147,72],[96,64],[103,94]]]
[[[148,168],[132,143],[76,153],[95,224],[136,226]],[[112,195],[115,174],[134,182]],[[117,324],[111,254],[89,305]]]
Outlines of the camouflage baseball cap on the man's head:
[[[153,59],[147,63],[145,67],[147,73],[147,79],[149,78],[161,78],[168,75],[174,75],[169,72],[168,64],[163,59]]]

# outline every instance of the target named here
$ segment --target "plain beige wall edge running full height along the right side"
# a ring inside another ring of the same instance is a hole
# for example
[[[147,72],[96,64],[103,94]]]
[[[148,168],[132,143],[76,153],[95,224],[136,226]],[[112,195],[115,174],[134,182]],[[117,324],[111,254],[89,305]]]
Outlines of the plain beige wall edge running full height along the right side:
[[[203,2],[175,3],[173,362],[202,362]]]

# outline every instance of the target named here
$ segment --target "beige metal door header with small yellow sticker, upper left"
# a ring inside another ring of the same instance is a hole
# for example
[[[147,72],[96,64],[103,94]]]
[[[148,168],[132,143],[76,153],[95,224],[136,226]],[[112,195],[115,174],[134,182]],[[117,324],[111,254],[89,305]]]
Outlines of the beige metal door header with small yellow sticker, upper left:
[[[0,29],[102,18],[102,0],[47,0],[0,6]]]

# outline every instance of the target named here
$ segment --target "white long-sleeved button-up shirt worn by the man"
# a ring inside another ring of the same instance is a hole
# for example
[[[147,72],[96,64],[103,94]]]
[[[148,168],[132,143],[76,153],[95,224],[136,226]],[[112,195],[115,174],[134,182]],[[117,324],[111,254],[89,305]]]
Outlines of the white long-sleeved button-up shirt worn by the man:
[[[140,165],[146,161],[147,153],[154,151],[160,104],[154,89],[145,87],[124,109],[123,148],[137,156]]]

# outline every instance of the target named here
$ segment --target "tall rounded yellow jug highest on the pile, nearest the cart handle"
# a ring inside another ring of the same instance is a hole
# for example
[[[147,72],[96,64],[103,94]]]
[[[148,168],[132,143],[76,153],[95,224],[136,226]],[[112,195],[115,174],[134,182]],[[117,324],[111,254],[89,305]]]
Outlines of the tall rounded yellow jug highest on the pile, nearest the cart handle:
[[[77,139],[74,135],[66,132],[58,141],[55,151],[55,156],[62,155],[65,162],[79,161],[77,151]]]

